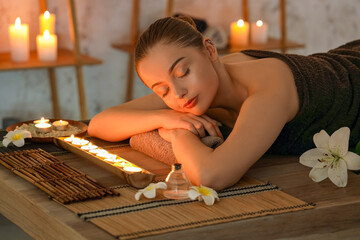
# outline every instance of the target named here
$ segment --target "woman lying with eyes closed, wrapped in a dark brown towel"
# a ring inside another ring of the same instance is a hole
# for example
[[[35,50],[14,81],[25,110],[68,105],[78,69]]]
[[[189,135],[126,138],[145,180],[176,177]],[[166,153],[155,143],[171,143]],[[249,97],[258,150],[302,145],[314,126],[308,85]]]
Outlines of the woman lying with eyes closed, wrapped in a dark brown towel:
[[[107,109],[90,135],[120,141],[159,130],[193,184],[235,184],[267,151],[301,154],[325,129],[360,136],[360,41],[324,54],[299,56],[247,50],[219,58],[188,18],[163,18],[138,40],[136,70],[154,93]],[[200,137],[222,137],[215,150]]]

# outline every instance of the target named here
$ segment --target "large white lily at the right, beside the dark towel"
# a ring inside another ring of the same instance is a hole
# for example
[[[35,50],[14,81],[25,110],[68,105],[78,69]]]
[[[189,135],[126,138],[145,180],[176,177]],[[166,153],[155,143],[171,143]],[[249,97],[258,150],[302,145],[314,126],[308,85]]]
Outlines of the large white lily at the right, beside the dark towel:
[[[316,148],[300,156],[300,163],[312,167],[309,177],[315,182],[329,179],[338,187],[347,184],[347,169],[360,169],[360,156],[349,152],[350,129],[342,127],[329,136],[324,130],[314,135]]]

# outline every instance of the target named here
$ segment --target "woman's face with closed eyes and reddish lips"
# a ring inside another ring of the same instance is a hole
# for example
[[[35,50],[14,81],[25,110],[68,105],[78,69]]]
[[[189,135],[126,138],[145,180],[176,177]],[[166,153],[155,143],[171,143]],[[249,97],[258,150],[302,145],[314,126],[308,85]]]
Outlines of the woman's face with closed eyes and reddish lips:
[[[208,50],[157,44],[138,63],[143,82],[172,109],[204,114],[213,102],[218,76]]]

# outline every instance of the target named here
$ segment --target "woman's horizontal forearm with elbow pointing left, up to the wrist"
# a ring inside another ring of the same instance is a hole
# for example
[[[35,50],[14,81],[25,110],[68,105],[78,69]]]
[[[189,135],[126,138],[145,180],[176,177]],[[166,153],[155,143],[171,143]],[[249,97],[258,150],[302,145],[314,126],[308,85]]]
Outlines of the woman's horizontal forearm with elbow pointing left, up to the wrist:
[[[88,132],[107,141],[121,141],[159,128],[161,111],[110,108],[91,119]]]

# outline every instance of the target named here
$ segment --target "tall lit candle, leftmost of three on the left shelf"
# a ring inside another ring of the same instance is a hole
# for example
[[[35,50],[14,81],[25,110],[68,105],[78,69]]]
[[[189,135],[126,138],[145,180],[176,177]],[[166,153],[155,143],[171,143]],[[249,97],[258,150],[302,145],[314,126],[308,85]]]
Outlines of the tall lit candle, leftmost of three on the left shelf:
[[[9,27],[11,60],[14,62],[26,62],[29,60],[29,26],[21,24],[20,18],[16,18],[15,24]]]

